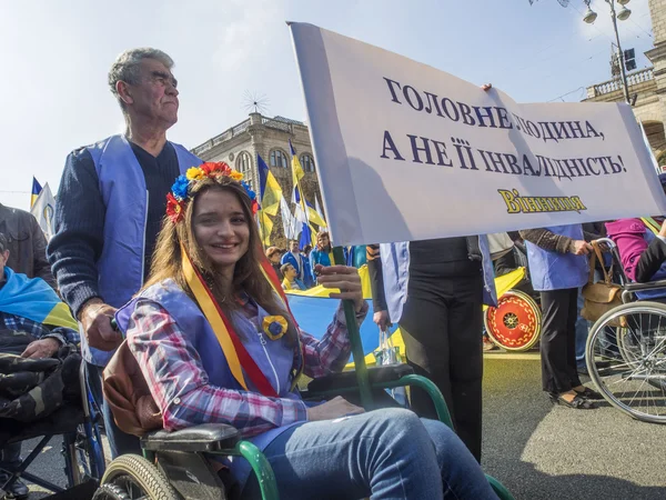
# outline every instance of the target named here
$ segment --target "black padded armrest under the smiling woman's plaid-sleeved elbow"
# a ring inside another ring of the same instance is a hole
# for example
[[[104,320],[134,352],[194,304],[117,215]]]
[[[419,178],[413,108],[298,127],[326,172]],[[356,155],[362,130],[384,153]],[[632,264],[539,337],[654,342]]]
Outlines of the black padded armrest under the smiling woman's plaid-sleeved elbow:
[[[141,438],[141,448],[149,451],[221,451],[241,440],[236,428],[225,423],[200,426],[169,432],[159,430]]]

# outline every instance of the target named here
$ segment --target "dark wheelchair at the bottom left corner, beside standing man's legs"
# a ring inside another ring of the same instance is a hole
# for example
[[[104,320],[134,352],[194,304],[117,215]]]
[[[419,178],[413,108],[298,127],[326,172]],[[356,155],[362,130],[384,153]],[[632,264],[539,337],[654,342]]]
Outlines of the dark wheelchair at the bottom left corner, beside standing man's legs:
[[[0,466],[0,470],[9,473],[9,479],[0,482],[0,499],[4,498],[4,490],[19,478],[56,493],[49,497],[53,499],[89,499],[94,494],[104,473],[105,461],[97,424],[101,420],[101,413],[85,380],[85,363],[81,361],[79,368],[80,406],[63,406],[53,413],[30,423],[0,419],[0,447],[41,438],[19,467],[10,469],[7,466]],[[28,467],[57,436],[62,436],[61,454],[64,459],[65,488],[27,471]]]

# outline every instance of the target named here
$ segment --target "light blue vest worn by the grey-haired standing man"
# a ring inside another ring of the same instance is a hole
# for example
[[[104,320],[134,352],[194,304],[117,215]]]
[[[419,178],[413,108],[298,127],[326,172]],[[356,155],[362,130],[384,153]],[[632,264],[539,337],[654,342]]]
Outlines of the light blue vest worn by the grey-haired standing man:
[[[202,163],[182,146],[171,144],[181,173]],[[97,262],[99,292],[105,303],[119,308],[143,284],[148,216],[145,178],[124,136],[111,136],[85,149],[92,156],[107,208],[104,247]],[[99,367],[105,367],[114,352],[89,347],[85,336],[81,336],[81,343],[83,358]]]

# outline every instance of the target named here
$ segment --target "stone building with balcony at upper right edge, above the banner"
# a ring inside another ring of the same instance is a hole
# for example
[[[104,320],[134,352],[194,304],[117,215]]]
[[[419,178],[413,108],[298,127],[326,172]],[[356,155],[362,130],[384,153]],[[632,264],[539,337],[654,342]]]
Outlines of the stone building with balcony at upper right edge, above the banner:
[[[643,126],[659,164],[666,164],[666,0],[648,0],[654,49],[645,52],[652,68],[627,74],[634,114]],[[591,102],[624,101],[622,80],[614,79],[587,88]]]

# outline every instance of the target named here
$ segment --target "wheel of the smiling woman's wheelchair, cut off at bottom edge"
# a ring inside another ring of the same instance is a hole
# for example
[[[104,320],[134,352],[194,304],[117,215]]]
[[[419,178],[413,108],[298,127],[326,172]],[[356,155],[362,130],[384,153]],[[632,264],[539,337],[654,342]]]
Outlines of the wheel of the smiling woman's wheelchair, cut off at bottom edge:
[[[138,454],[123,454],[107,468],[93,500],[180,500],[164,474]]]

